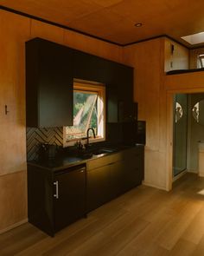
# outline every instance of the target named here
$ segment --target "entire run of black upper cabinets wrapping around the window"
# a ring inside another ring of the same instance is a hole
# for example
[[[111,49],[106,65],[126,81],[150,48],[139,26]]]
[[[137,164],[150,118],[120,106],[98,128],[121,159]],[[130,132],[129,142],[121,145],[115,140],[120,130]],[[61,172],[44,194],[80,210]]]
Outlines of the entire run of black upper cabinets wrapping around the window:
[[[28,127],[73,124],[74,78],[105,84],[107,122],[126,121],[133,115],[131,67],[35,38],[26,43]]]

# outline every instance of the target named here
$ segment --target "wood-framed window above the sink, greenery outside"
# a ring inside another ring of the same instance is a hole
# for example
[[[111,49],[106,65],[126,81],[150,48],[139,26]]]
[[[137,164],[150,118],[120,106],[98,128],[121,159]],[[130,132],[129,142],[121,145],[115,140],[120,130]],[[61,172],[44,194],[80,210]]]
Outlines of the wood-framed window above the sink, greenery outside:
[[[97,82],[73,82],[73,126],[64,128],[64,146],[84,140],[93,128],[90,141],[105,141],[105,86]]]

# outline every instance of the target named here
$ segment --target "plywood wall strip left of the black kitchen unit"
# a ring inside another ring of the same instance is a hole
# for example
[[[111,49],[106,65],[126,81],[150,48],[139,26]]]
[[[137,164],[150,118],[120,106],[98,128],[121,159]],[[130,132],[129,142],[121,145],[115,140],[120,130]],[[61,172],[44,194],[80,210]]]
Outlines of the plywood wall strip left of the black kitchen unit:
[[[29,29],[26,18],[0,11],[0,232],[27,218],[24,42]]]

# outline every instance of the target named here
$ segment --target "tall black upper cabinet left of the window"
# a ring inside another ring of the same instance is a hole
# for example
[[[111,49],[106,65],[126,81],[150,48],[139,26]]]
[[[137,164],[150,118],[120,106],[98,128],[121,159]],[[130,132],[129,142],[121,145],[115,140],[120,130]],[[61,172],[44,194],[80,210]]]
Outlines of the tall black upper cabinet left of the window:
[[[73,124],[73,49],[41,38],[26,43],[28,127]]]

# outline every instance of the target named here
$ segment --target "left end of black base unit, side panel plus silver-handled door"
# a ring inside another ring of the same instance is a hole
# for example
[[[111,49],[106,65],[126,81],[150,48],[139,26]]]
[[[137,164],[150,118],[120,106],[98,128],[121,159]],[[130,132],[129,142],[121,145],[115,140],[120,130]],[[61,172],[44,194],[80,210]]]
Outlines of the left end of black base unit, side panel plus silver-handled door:
[[[52,172],[28,166],[29,222],[54,233],[86,214],[86,166]]]

